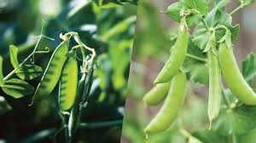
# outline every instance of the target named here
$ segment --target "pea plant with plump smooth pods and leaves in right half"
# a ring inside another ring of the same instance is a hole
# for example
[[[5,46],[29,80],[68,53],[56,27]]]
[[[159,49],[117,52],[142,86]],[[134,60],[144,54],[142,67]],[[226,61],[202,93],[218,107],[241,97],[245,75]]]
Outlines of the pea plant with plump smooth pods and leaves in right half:
[[[209,126],[195,133],[181,127],[189,143],[246,142],[248,134],[255,132],[255,56],[248,54],[240,71],[233,52],[240,25],[232,24],[232,15],[253,1],[239,2],[238,8],[228,12],[227,0],[184,0],[172,3],[164,12],[179,26],[172,37],[175,42],[169,59],[155,78],[153,89],[143,96],[148,106],[163,101],[144,129],[148,140],[177,121],[188,91],[187,81],[208,86]]]

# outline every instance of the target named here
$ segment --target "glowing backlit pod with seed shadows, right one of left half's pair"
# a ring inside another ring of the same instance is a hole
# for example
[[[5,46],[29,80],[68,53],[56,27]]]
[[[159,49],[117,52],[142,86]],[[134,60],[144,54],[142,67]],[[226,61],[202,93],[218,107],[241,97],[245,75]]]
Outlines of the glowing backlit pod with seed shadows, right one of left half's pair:
[[[77,93],[78,73],[78,61],[72,51],[61,73],[59,106],[62,112],[73,106]]]

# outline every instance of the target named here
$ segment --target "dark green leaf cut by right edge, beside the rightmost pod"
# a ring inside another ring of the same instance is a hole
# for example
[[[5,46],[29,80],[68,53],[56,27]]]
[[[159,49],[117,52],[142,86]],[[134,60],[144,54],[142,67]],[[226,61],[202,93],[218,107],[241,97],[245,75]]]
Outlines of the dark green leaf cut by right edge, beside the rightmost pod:
[[[248,83],[253,82],[253,77],[256,73],[255,55],[248,54],[245,60],[241,62],[241,73]]]

